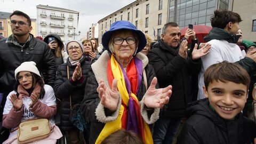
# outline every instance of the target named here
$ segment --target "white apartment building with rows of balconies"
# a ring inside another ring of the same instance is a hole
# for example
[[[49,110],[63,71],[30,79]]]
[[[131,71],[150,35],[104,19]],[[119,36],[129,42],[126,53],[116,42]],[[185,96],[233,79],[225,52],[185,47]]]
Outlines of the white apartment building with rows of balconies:
[[[43,38],[51,33],[58,34],[63,42],[77,39],[79,12],[53,7],[37,5],[37,36]]]

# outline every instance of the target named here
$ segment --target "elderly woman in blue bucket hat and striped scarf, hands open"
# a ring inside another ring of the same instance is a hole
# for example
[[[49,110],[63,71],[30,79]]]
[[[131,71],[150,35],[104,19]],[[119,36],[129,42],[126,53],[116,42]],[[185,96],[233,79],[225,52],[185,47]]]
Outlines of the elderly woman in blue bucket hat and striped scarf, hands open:
[[[153,143],[149,124],[169,101],[172,86],[155,88],[153,67],[139,53],[146,43],[145,35],[129,21],[117,21],[103,34],[107,51],[91,66],[82,102],[82,115],[91,122],[90,143],[100,143],[119,129]]]

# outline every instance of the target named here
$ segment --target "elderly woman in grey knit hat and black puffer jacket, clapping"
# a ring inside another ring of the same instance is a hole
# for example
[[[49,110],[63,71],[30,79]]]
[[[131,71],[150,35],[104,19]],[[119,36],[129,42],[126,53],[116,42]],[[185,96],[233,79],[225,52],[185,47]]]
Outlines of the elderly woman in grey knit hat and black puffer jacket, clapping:
[[[83,143],[79,141],[79,130],[69,121],[70,105],[74,106],[83,100],[87,74],[91,65],[90,62],[85,61],[83,51],[81,42],[73,40],[67,43],[66,52],[69,58],[67,63],[58,67],[54,85],[55,95],[62,104],[60,129],[65,132],[68,143]]]

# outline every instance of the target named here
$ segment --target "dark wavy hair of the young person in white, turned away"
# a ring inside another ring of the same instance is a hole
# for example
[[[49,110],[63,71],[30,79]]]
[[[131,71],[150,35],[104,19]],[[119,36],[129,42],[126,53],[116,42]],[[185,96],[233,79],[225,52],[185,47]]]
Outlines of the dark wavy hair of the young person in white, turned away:
[[[211,17],[212,27],[224,29],[229,22],[241,22],[242,19],[238,13],[228,10],[215,10]]]

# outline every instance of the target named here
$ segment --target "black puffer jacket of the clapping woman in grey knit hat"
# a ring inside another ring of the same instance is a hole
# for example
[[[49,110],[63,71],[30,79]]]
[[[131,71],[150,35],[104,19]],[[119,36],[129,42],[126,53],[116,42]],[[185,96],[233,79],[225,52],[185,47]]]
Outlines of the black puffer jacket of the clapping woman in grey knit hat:
[[[80,103],[84,98],[84,89],[87,81],[88,71],[90,69],[91,63],[85,61],[83,58],[81,61],[81,69],[83,77],[79,82],[70,82],[67,78],[67,66],[69,67],[69,78],[72,78],[76,66],[71,66],[69,59],[67,63],[63,63],[57,69],[57,77],[54,85],[54,92],[56,97],[61,100],[61,125],[60,129],[62,131],[70,131],[75,128],[73,124],[69,122],[69,112],[70,112],[70,94],[72,100],[72,106]]]

